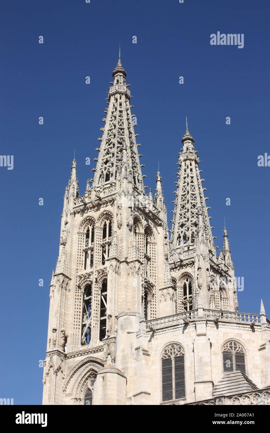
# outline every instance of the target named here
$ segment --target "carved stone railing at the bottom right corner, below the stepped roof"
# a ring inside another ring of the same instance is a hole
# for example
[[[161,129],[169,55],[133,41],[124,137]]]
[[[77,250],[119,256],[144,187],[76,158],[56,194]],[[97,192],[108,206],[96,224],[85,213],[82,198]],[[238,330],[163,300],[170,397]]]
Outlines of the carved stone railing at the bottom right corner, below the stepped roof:
[[[252,392],[243,392],[239,394],[229,395],[227,397],[220,396],[209,400],[196,401],[195,403],[185,403],[191,406],[250,406],[250,405],[270,405],[270,387],[258,389]]]

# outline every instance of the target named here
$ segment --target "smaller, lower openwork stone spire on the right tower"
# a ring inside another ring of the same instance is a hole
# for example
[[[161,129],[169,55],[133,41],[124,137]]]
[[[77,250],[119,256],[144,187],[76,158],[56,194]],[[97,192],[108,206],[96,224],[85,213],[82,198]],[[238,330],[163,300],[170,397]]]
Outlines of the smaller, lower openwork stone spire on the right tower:
[[[215,255],[215,246],[211,234],[211,227],[208,220],[210,209],[206,206],[202,187],[200,171],[198,169],[199,158],[193,146],[194,138],[189,132],[187,123],[185,135],[182,138],[182,149],[179,152],[179,171],[176,183],[176,200],[173,213],[171,247],[178,249],[180,246],[187,246],[191,249],[196,238],[205,245],[205,250],[212,251]]]

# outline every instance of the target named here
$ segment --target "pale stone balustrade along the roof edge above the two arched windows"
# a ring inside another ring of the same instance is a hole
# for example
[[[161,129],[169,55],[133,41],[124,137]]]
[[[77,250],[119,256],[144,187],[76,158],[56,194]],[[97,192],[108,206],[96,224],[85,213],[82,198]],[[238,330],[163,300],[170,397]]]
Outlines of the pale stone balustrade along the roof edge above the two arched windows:
[[[220,310],[207,310],[203,309],[202,316],[198,317],[198,310],[185,311],[184,313],[174,314],[172,316],[159,317],[158,319],[146,320],[146,330],[150,328],[160,329],[169,326],[176,326],[187,322],[193,322],[198,318],[205,318],[205,320],[218,320],[218,322],[230,323],[248,323],[253,325],[260,325],[262,318],[260,314],[252,313],[238,313],[238,311],[220,311]]]

